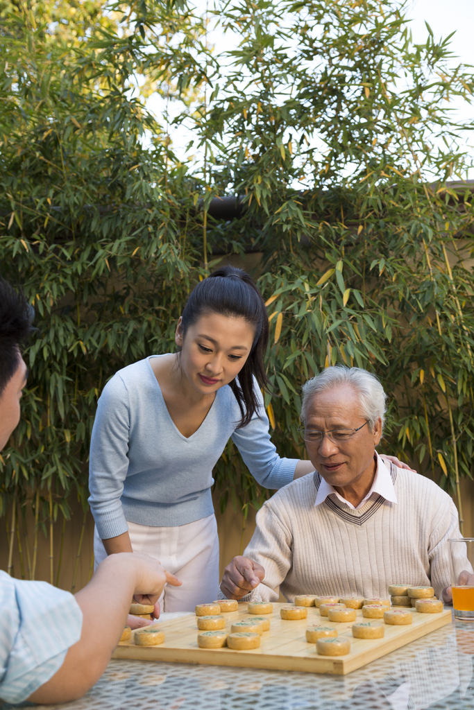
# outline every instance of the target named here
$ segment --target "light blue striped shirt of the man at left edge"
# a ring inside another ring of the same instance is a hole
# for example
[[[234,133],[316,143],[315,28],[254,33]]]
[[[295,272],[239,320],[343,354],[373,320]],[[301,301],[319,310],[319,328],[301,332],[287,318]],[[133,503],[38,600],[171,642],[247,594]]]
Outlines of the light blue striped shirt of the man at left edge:
[[[81,630],[82,611],[68,591],[0,570],[0,698],[26,700],[60,669]]]

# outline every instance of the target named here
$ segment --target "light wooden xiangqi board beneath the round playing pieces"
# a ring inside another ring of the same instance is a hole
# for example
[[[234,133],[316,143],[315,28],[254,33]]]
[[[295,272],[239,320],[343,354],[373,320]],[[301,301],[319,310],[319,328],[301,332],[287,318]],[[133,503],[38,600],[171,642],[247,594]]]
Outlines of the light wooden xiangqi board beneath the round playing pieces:
[[[134,660],[200,663],[203,665],[239,666],[265,668],[268,670],[295,670],[308,673],[332,673],[345,675],[377,658],[414,641],[431,631],[451,623],[451,611],[445,609],[436,614],[422,614],[407,608],[413,615],[409,626],[385,625],[384,638],[359,639],[352,636],[352,623],[335,623],[321,616],[315,606],[308,607],[308,618],[285,621],[280,617],[282,603],[274,603],[271,614],[260,614],[270,619],[271,627],[261,636],[260,648],[235,651],[230,648],[199,648],[196,616],[182,616],[171,621],[157,622],[165,632],[165,642],[158,646],[136,646],[134,632],[131,639],[122,641],[113,658]],[[398,607],[401,608],[401,607]],[[238,611],[224,613],[225,630],[230,633],[232,623],[252,618],[247,613],[247,603],[239,603]],[[254,618],[254,617],[253,617]],[[362,611],[357,609],[357,621],[362,621]],[[383,623],[383,619],[367,619]],[[306,641],[306,627],[310,625],[334,626],[338,636],[350,640],[350,653],[328,657],[318,655],[316,644]]]

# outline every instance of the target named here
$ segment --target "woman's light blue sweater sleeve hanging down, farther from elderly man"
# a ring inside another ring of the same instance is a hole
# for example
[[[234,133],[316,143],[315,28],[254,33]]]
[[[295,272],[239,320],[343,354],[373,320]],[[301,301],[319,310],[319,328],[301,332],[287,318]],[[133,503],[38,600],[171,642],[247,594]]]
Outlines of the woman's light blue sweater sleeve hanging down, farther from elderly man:
[[[129,528],[120,498],[129,468],[130,413],[124,381],[115,375],[102,391],[90,442],[90,509],[102,540]]]

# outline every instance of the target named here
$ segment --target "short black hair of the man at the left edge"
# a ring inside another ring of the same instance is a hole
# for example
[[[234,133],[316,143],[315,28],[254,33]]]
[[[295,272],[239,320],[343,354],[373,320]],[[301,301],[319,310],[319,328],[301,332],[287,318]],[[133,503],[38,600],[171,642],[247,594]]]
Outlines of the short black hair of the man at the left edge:
[[[0,396],[20,364],[20,343],[28,337],[31,308],[22,291],[0,278]]]

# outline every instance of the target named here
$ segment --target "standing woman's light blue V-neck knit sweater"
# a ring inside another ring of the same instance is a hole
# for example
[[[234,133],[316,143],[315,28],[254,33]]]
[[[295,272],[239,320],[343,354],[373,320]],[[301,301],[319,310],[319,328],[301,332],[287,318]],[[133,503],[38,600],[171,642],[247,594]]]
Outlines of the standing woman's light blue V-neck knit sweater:
[[[168,413],[149,358],[117,372],[99,399],[90,445],[89,503],[99,537],[122,535],[127,520],[173,527],[211,515],[212,468],[230,437],[259,484],[289,484],[298,460],[276,454],[257,381],[255,388],[261,406],[247,427],[236,428],[239,405],[225,385],[187,439]]]

